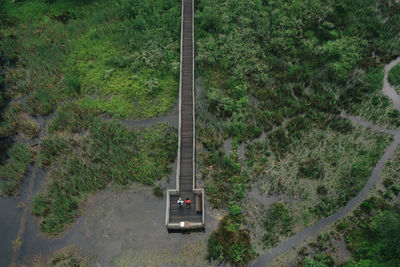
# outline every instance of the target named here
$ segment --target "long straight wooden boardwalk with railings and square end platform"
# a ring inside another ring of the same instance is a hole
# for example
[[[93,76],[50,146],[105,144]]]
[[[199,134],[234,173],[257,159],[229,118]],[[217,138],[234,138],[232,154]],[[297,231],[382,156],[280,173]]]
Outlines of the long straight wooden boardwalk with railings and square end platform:
[[[195,188],[193,1],[182,0],[177,189],[167,192],[165,223],[168,229],[204,228],[204,190]],[[179,207],[179,197],[189,198],[191,208]]]

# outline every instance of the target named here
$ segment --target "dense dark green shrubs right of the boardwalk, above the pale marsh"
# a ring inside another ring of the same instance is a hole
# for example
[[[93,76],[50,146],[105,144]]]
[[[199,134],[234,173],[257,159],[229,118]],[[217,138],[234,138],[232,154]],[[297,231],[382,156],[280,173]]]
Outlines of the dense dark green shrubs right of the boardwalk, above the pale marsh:
[[[382,87],[379,60],[398,54],[400,28],[394,11],[399,3],[375,2],[199,1],[196,60],[210,76],[209,111],[225,121],[225,133],[246,140],[301,114],[336,115],[340,109],[398,124],[398,112],[386,110],[381,99],[379,109],[368,103]],[[390,112],[396,119],[382,114]],[[278,154],[307,128],[307,123],[288,124],[294,126],[290,132],[279,129],[271,136]],[[325,124],[351,130],[343,119]]]

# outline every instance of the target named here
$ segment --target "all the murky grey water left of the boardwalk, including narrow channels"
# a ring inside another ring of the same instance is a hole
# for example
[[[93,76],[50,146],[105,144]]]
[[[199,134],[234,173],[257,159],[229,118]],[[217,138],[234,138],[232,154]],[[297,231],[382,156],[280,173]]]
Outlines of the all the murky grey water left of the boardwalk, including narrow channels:
[[[46,132],[52,116],[35,118]],[[159,122],[178,126],[177,106],[165,115],[145,120],[122,120],[132,130]],[[39,139],[18,142],[35,145]],[[174,188],[176,164],[164,188]],[[25,174],[20,195],[0,198],[0,266],[29,263],[33,256],[49,256],[58,249],[76,245],[83,255],[93,256],[98,266],[205,265],[208,234],[216,229],[222,216],[207,207],[205,233],[168,234],[165,223],[165,197],[157,198],[152,187],[133,184],[129,189],[112,187],[88,198],[82,214],[62,235],[50,239],[40,232],[38,221],[30,214],[32,197],[43,190],[46,172],[30,166]],[[19,207],[20,206],[20,207]],[[207,203],[206,203],[206,206]],[[21,237],[22,244],[13,253],[12,241]]]

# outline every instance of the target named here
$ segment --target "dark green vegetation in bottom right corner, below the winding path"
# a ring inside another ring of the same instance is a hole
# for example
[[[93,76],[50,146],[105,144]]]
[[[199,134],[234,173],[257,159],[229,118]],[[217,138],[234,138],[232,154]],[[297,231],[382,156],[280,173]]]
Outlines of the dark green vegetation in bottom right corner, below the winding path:
[[[382,197],[371,197],[353,215],[338,222],[335,230],[319,235],[301,248],[297,266],[398,266],[399,231],[398,208]],[[350,259],[335,262],[334,255],[341,255],[334,242],[345,242]]]

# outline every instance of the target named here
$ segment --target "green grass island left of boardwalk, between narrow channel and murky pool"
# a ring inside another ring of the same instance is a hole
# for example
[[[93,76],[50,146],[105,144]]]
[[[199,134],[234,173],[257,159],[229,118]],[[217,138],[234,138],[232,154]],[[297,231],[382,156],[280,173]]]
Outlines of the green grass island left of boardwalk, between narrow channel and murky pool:
[[[41,142],[39,164],[51,171],[45,191],[34,198],[32,213],[48,235],[65,230],[89,194],[109,184],[153,185],[168,175],[176,157],[177,134],[166,124],[132,132],[116,121],[94,118],[85,123],[87,134],[75,141],[57,136],[62,132],[51,125],[56,136]]]

